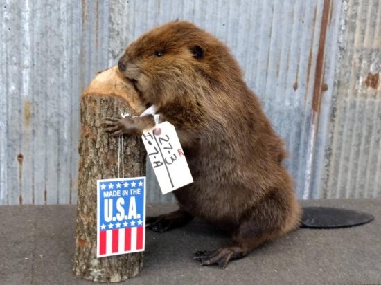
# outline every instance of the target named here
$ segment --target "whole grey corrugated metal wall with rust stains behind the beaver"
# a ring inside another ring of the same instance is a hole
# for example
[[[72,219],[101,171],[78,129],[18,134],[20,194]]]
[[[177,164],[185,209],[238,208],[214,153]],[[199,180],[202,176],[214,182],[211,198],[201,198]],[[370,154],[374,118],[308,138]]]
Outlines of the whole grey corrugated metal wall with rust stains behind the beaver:
[[[81,91],[177,18],[231,48],[287,142],[299,198],[381,196],[378,2],[2,1],[0,205],[76,203]],[[148,176],[148,201],[173,199]]]

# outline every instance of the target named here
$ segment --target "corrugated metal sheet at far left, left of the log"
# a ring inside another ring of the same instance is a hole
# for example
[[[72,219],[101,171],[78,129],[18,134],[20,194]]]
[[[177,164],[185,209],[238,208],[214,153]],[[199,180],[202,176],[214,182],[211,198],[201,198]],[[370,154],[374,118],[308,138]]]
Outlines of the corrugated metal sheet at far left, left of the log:
[[[1,2],[0,204],[75,203],[81,6]]]

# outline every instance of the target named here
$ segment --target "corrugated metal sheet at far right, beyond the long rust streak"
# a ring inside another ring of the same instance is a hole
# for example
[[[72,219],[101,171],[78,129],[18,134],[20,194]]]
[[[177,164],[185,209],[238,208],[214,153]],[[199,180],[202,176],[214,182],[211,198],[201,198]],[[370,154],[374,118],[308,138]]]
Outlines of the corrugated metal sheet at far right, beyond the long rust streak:
[[[342,1],[323,198],[381,194],[381,3]]]

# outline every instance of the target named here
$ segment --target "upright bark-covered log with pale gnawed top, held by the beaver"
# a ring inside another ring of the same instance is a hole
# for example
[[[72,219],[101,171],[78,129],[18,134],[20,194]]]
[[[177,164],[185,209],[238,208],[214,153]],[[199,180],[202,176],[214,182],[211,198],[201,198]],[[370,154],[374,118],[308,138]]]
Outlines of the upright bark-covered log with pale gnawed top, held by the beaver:
[[[118,138],[103,131],[100,127],[102,119],[126,111],[139,115],[144,109],[134,87],[123,79],[116,67],[99,73],[82,93],[76,257],[73,271],[83,279],[120,282],[141,271],[143,252],[96,257],[96,180],[118,178]],[[123,142],[124,177],[145,176],[146,154],[141,138],[125,136]],[[122,167],[120,171],[121,169]]]

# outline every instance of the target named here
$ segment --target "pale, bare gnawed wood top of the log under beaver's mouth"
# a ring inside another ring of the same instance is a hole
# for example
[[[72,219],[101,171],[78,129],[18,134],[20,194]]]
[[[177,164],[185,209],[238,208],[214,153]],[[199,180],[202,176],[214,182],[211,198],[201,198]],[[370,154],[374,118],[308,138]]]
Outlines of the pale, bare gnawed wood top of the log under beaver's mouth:
[[[145,110],[134,85],[119,72],[118,66],[100,72],[82,93],[82,96],[87,95],[122,98],[129,104],[135,116],[139,116]]]

